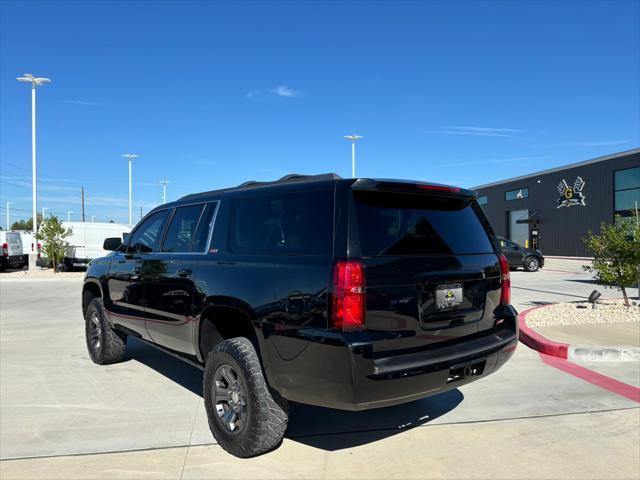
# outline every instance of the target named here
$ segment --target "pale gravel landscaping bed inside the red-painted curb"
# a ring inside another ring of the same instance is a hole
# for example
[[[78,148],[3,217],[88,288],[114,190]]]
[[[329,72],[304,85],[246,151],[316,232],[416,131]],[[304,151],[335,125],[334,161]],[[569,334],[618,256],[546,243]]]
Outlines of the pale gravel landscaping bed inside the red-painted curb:
[[[583,323],[621,323],[640,321],[640,305],[631,300],[630,307],[624,300],[598,300],[595,308],[589,302],[556,303],[527,314],[527,325],[531,328]]]

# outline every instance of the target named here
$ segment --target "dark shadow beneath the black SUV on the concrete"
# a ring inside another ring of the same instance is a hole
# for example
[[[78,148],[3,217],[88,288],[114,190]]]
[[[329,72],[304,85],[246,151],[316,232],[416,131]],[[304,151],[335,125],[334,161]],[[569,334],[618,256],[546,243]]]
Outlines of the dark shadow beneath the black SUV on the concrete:
[[[203,373],[184,362],[129,338],[127,357],[138,361],[202,397]],[[458,389],[393,407],[359,412],[293,403],[286,438],[327,451],[342,450],[382,440],[418,427],[450,412],[462,403]]]

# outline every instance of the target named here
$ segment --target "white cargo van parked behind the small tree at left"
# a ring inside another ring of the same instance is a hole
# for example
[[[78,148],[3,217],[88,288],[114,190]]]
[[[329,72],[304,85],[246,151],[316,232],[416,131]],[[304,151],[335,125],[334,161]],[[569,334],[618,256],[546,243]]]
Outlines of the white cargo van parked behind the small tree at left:
[[[74,267],[86,267],[91,260],[104,257],[109,252],[102,248],[106,238],[124,238],[131,231],[131,227],[121,223],[103,222],[61,222],[64,228],[71,230],[65,240],[68,243],[65,257],[59,270],[71,270]],[[40,264],[51,266],[42,249]]]

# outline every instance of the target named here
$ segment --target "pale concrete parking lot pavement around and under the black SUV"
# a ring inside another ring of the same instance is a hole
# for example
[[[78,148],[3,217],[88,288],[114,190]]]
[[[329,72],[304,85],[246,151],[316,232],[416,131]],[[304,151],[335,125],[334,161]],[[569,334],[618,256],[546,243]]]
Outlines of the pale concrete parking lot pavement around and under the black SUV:
[[[512,283],[518,310],[594,288],[568,260]],[[136,341],[123,363],[91,363],[80,288],[73,276],[0,278],[3,479],[640,476],[639,404],[522,344],[495,375],[404,406],[293,405],[278,450],[234,458],[209,432],[199,370]],[[637,362],[583,366],[640,385]]]

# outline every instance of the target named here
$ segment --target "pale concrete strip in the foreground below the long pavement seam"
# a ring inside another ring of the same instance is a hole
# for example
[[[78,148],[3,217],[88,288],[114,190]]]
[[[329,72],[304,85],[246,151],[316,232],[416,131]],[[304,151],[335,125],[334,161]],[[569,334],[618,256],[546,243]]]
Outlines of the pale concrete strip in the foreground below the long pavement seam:
[[[640,410],[554,415],[408,429],[375,443],[367,433],[285,439],[240,460],[217,445],[9,460],[10,479],[636,479]],[[364,441],[363,441],[364,440]],[[335,450],[333,446],[359,445]],[[542,461],[544,459],[544,461]]]

